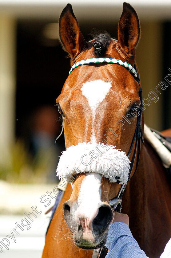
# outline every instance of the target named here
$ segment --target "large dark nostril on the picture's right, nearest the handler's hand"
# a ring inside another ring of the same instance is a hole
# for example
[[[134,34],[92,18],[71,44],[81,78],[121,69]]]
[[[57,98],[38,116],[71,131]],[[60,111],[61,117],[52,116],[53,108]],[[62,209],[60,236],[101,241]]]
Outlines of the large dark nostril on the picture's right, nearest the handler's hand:
[[[112,209],[108,205],[103,204],[93,220],[93,231],[100,231],[100,233],[103,233],[110,224],[112,218]]]

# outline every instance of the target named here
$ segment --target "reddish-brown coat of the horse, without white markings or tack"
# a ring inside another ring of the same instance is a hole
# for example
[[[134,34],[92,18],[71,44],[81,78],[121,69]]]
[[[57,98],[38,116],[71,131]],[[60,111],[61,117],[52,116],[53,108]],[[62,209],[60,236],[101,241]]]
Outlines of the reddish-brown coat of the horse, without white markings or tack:
[[[59,24],[61,42],[71,57],[71,65],[80,60],[97,57],[93,47],[96,39],[89,42],[84,40],[69,4],[62,11]],[[137,14],[129,4],[124,3],[118,25],[118,41],[109,40],[104,48],[103,57],[124,60],[133,66],[135,47],[139,36],[140,27]],[[88,108],[87,100],[81,91],[84,82],[93,80],[111,81],[110,95],[106,95],[105,100],[99,104],[95,117]],[[57,98],[59,111],[64,121],[66,147],[84,141],[88,143],[93,137],[98,143],[102,140],[106,130],[111,127],[118,135],[112,144],[116,145],[117,149],[128,153],[136,127],[136,119],[135,121],[130,119],[130,123],[125,123],[125,130],[121,129],[117,121],[123,114],[128,115],[130,108],[138,102],[138,88],[133,76],[119,65],[82,65],[74,69],[67,78],[61,95]],[[130,160],[132,155],[131,153]],[[135,165],[133,172],[134,170]],[[76,246],[62,212],[64,202],[69,200],[67,207],[71,208],[77,203],[85,177],[85,174],[79,174],[74,180],[73,191],[70,184],[67,187],[50,224],[42,258],[92,256],[92,250],[84,250]],[[117,195],[120,185],[102,179],[101,190],[101,200],[106,209],[107,207],[109,209],[109,200]],[[87,191],[92,191],[92,189],[87,187]],[[156,152],[149,143],[145,142],[145,146],[141,145],[137,172],[128,182],[123,196],[122,212],[129,215],[133,236],[146,255],[151,258],[161,255],[171,236],[170,200],[171,189],[166,170]],[[73,219],[72,216],[71,218]],[[80,223],[82,224],[82,222]],[[83,228],[83,232],[84,230]],[[90,227],[86,230],[91,233]]]

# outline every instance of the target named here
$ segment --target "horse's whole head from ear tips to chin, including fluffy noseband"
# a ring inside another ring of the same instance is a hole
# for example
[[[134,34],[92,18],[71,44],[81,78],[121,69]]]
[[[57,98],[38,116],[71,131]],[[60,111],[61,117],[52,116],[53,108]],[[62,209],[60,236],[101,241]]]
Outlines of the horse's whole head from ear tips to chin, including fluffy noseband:
[[[133,155],[131,176],[136,167],[138,154],[132,139],[140,112],[140,87],[121,62],[135,66],[140,25],[133,7],[124,3],[118,40],[104,33],[86,42],[68,4],[59,19],[59,33],[71,67],[76,64],[56,100],[67,148],[57,171],[61,178],[74,176],[63,214],[78,247],[94,249],[105,244],[113,220],[109,204],[130,176]],[[106,62],[96,63],[97,58]],[[119,65],[108,62],[111,59]]]

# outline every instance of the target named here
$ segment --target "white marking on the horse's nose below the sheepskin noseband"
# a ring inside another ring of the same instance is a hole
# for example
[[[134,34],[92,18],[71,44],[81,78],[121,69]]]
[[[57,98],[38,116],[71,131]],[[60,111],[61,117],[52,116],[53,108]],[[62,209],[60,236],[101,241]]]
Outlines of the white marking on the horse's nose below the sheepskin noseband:
[[[92,221],[98,214],[98,206],[101,204],[101,175],[91,172],[86,173],[80,186],[78,197],[78,208],[75,212],[75,220],[87,220],[87,224],[92,227]]]

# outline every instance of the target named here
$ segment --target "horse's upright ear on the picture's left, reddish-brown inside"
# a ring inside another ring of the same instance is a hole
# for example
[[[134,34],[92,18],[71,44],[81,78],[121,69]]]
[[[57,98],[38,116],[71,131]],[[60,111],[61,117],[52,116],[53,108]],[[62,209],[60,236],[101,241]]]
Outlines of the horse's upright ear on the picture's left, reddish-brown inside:
[[[85,47],[86,41],[70,4],[67,4],[60,15],[59,36],[64,50],[72,59],[77,57]]]

